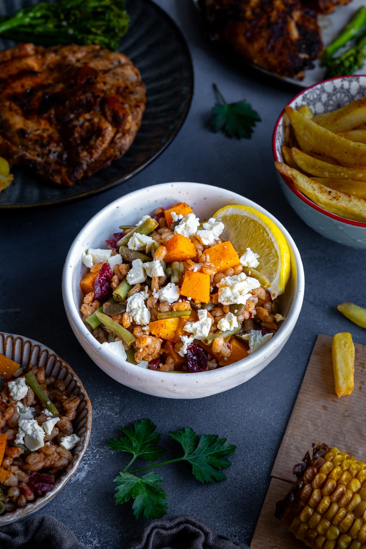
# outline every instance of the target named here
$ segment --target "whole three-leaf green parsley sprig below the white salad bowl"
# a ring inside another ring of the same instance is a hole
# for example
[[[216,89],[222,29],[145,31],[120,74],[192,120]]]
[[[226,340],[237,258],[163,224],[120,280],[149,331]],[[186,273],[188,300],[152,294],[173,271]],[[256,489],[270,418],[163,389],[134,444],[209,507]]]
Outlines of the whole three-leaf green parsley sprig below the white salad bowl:
[[[157,473],[151,471],[143,477],[134,473],[185,461],[192,466],[194,477],[202,483],[226,480],[222,469],[231,465],[226,456],[232,455],[237,448],[233,444],[229,444],[227,439],[219,439],[218,435],[203,434],[199,438],[192,427],[185,427],[179,429],[177,433],[168,433],[171,439],[182,447],[182,456],[153,463],[146,467],[127,470],[137,458],[156,462],[157,458],[165,454],[165,449],[159,445],[160,434],[156,433],[155,429],[156,425],[150,419],[142,419],[142,421],[135,422],[132,428],[123,428],[122,433],[125,436],[106,440],[106,444],[112,450],[132,454],[131,461],[117,475],[114,482],[117,484],[116,503],[134,500],[132,509],[136,519],[164,516],[167,512],[167,494],[160,486],[163,479]]]

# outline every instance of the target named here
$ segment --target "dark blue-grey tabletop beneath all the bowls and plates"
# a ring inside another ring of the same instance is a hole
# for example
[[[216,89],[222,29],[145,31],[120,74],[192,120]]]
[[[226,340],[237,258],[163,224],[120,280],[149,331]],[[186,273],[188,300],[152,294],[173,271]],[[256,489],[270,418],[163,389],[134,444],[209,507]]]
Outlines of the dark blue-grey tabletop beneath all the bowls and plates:
[[[201,36],[190,0],[158,3],[181,26],[195,65],[192,108],[172,145],[133,180],[97,197],[63,207],[0,212],[0,329],[42,341],[65,358],[93,405],[86,456],[75,477],[40,514],[58,517],[92,548],[124,547],[144,524],[136,522],[129,504],[114,503],[112,480],[125,458],[104,443],[123,425],[143,417],[150,417],[164,434],[192,425],[198,433],[217,433],[238,445],[224,483],[200,485],[185,466],[169,466],[160,473],[170,516],[194,514],[218,533],[249,542],[316,335],[347,330],[354,341],[366,344],[364,330],[335,310],[342,301],[366,305],[365,251],[337,245],[308,228],[284,201],[275,177],[272,130],[297,89],[218,57]],[[245,97],[260,112],[263,122],[250,141],[233,141],[207,130],[212,82],[227,100]],[[167,181],[209,183],[257,201],[284,223],[305,266],[305,301],[284,350],[244,385],[200,400],[158,399],[114,382],[78,346],[61,299],[63,262],[82,226],[122,193]]]

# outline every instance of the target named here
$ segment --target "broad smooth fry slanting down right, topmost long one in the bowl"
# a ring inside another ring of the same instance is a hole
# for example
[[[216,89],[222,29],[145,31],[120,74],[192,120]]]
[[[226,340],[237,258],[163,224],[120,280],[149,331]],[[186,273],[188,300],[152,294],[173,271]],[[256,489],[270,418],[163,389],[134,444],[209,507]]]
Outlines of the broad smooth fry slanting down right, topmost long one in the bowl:
[[[316,152],[327,154],[344,165],[366,166],[366,144],[344,139],[289,106],[285,110],[295,132]]]

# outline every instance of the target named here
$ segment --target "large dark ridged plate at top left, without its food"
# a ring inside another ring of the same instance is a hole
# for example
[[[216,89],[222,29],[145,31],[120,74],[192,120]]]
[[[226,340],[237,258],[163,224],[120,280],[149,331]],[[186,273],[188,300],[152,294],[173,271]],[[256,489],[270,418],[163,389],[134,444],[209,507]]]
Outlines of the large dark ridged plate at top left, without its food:
[[[1,0],[0,16],[37,0]],[[14,167],[14,181],[0,193],[0,208],[24,208],[67,202],[115,187],[153,161],[177,135],[193,93],[193,66],[187,43],[172,19],[151,0],[127,0],[129,31],[120,51],[132,59],[147,87],[147,105],[131,148],[120,160],[75,183],[59,187],[36,173]],[[0,49],[14,42],[0,38]],[[1,109],[1,105],[0,105]]]

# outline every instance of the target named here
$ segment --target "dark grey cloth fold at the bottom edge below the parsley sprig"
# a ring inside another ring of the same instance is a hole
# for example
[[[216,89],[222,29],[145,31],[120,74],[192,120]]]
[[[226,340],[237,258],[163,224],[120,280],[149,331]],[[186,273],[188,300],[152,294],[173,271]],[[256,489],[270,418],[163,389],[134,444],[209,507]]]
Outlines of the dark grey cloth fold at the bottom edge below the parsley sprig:
[[[180,516],[150,522],[142,541],[131,549],[250,549],[246,544],[215,534],[212,526],[195,517]]]

